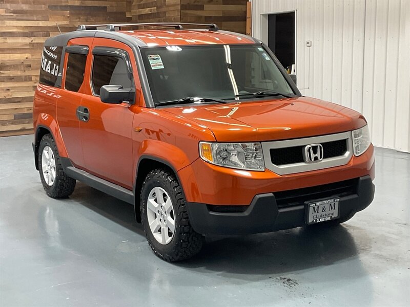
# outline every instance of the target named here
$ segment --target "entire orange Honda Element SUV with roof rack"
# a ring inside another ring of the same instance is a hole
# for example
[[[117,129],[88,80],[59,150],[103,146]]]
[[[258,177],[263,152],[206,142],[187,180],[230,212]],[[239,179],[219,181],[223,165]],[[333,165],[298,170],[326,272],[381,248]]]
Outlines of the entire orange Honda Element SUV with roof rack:
[[[367,122],[295,84],[214,24],[81,25],[45,42],[35,166],[52,198],[78,180],[133,204],[167,261],[207,235],[337,225],[373,200]]]

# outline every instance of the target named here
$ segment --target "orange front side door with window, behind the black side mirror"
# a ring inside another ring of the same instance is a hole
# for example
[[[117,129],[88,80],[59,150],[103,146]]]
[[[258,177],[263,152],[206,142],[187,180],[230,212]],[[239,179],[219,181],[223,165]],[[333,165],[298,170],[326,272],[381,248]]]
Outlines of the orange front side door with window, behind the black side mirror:
[[[84,95],[81,102],[89,117],[80,121],[85,164],[95,176],[132,189],[133,105],[128,101],[104,103],[99,97],[104,85],[121,85],[135,92],[132,72],[136,75],[136,64],[132,50],[111,39],[94,38],[90,53],[92,67],[88,83],[91,93]]]

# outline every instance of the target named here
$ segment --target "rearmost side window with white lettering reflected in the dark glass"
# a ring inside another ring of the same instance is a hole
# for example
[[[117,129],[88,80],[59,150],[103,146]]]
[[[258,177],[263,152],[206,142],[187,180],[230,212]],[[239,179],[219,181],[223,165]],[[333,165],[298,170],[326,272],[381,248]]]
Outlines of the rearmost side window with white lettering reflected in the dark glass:
[[[45,46],[43,48],[42,64],[38,81],[40,84],[55,86],[62,53],[63,47]]]

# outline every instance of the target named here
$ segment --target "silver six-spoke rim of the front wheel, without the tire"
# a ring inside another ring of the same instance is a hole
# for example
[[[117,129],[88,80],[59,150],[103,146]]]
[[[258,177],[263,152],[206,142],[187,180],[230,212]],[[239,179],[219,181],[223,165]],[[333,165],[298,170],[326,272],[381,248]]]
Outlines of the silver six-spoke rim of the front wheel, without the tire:
[[[171,242],[175,233],[175,215],[168,193],[161,187],[155,187],[148,194],[148,225],[154,238],[162,245]]]

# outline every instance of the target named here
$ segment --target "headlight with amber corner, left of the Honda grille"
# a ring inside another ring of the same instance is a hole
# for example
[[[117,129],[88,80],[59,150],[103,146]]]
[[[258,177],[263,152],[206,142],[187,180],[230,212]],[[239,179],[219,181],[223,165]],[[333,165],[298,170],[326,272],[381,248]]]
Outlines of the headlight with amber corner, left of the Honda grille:
[[[199,143],[200,157],[212,164],[247,169],[264,170],[260,143]]]

